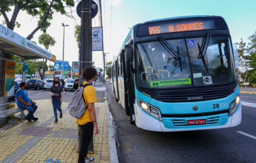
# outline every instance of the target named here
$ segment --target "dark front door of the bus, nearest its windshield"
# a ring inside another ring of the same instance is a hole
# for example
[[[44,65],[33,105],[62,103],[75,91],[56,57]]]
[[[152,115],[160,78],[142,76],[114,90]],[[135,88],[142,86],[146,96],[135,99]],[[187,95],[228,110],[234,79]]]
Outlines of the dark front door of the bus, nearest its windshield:
[[[129,115],[130,123],[134,123],[135,121],[135,114],[134,114],[134,107],[133,103],[135,102],[135,92],[134,92],[134,79],[133,79],[133,48],[132,43],[130,42],[128,45],[125,45],[125,61],[126,61],[126,85],[128,94],[128,108],[126,108],[126,112]]]

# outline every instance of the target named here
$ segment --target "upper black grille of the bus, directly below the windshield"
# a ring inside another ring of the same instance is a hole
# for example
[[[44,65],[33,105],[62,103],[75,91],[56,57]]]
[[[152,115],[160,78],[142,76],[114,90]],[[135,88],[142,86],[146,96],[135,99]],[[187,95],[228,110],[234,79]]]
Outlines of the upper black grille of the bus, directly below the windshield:
[[[231,92],[228,89],[213,89],[213,90],[200,90],[200,91],[185,91],[185,92],[172,92],[158,94],[155,99],[163,102],[190,102],[190,101],[203,101],[217,98],[225,98]],[[198,99],[196,99],[198,97]],[[195,100],[188,100],[194,98]]]

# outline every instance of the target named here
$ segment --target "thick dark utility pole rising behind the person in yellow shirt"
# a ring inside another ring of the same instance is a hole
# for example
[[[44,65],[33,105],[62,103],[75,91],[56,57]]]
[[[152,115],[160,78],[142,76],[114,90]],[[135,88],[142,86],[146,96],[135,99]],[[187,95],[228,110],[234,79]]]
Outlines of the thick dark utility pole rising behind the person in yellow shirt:
[[[83,83],[82,70],[92,66],[91,43],[91,0],[82,0],[81,5],[81,42],[79,57],[79,82]]]

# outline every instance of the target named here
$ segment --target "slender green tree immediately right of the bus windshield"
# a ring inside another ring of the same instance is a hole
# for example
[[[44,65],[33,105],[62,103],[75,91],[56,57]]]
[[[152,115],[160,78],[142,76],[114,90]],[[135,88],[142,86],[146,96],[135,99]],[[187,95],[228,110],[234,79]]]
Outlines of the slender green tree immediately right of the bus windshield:
[[[239,70],[238,75],[241,75],[242,72],[245,70],[245,77],[243,78],[243,82],[246,82],[246,79],[248,77],[248,55],[246,55],[246,43],[243,42],[243,39],[241,38],[241,41],[239,43],[236,43],[238,45],[238,56],[239,56]]]

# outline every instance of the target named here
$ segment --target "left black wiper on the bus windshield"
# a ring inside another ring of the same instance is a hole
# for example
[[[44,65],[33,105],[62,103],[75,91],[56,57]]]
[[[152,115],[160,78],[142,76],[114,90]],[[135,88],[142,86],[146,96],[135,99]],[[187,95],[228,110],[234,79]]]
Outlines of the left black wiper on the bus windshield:
[[[171,47],[171,45],[161,36],[157,37],[160,41],[160,44],[165,48],[166,51],[170,53],[170,55],[175,59],[179,60],[180,68],[182,71],[182,64],[181,64],[181,57],[180,57],[180,52],[179,52],[179,47],[177,46],[177,53],[175,50]]]

